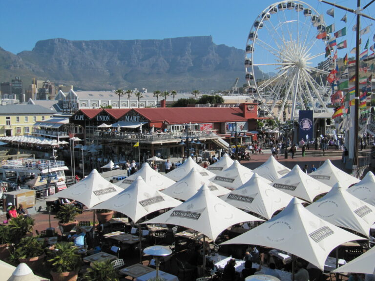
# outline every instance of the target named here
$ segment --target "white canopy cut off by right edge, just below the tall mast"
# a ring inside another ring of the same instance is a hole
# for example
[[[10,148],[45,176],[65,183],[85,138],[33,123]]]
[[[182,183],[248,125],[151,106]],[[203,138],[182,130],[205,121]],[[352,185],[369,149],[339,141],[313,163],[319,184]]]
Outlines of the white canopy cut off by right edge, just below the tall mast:
[[[362,181],[348,188],[348,192],[356,198],[375,206],[375,176],[373,172],[369,171]]]

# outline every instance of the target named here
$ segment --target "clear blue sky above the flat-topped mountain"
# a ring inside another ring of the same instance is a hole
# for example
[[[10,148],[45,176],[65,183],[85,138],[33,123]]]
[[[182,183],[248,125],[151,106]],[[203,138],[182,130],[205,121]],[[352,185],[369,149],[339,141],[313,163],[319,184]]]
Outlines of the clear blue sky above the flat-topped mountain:
[[[31,50],[38,40],[134,40],[212,36],[214,43],[245,49],[254,19],[271,0],[0,0],[0,47]],[[327,23],[329,5],[306,0]],[[370,0],[362,0],[362,6]],[[356,0],[336,3],[355,8]],[[339,24],[345,12],[335,10]],[[375,3],[366,12],[375,17]],[[354,21],[349,16],[348,23]],[[370,23],[365,21],[365,25]],[[337,30],[337,27],[336,27]],[[372,27],[372,33],[375,30]],[[372,38],[372,36],[371,36]],[[349,41],[349,40],[348,40]]]

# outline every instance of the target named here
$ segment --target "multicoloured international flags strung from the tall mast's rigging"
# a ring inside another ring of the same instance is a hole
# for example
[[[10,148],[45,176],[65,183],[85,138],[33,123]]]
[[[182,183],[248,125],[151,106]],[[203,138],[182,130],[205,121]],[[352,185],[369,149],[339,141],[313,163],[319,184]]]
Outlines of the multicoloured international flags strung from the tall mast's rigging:
[[[326,14],[334,19],[334,12],[334,8],[331,8],[326,11]],[[320,23],[324,22],[323,16],[320,15],[317,21]],[[341,17],[340,21],[347,23],[347,14]],[[332,23],[325,28],[321,28],[319,26],[318,33],[316,35],[318,40],[324,40],[327,42],[325,44],[326,59],[321,63],[321,67],[328,73],[327,81],[331,84],[332,89],[331,103],[336,105],[339,104],[339,106],[335,108],[335,112],[332,116],[333,119],[340,116],[346,117],[348,114],[350,114],[350,106],[354,105],[355,101],[355,86],[351,86],[350,84],[353,85],[355,82],[355,75],[353,75],[355,59],[353,55],[351,56],[351,54],[356,53],[356,48],[354,47],[347,50],[349,47],[348,41],[345,38],[347,36],[347,26],[344,26],[339,30],[336,30],[336,27],[337,26],[335,26],[335,23]],[[356,28],[357,27],[354,24],[352,31],[356,31]],[[367,104],[369,101],[371,101],[372,92],[372,72],[374,70],[374,63],[372,61],[375,58],[375,43],[370,43],[370,38],[368,38],[366,43],[361,45],[362,37],[369,33],[371,33],[370,25],[365,26],[362,29],[360,28],[359,30],[359,44],[360,46],[363,46],[363,48],[360,48],[359,50],[360,66],[358,77],[358,82],[360,85],[359,109],[361,113],[368,112]],[[375,34],[373,35],[372,39],[375,42]],[[338,50],[347,50],[345,55],[340,56],[342,60],[338,60]],[[370,51],[372,53],[370,53]],[[351,75],[349,76],[349,74]]]

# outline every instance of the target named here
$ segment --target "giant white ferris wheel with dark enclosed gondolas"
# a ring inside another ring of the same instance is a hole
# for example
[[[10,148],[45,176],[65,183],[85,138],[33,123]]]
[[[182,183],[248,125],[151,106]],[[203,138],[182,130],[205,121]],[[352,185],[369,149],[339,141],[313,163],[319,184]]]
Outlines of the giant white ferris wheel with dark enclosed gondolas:
[[[326,60],[330,36],[316,39],[325,28],[318,12],[299,0],[276,2],[255,19],[245,69],[248,93],[258,100],[261,115],[293,120],[300,109],[327,111],[329,72],[317,66]]]

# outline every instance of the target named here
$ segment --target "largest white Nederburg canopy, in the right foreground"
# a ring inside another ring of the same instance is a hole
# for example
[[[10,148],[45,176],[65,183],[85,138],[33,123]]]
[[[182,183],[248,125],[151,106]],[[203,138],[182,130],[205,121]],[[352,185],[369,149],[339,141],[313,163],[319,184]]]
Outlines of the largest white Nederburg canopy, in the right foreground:
[[[363,238],[324,221],[293,198],[270,221],[222,244],[255,244],[280,249],[324,268],[330,252],[338,245]]]

